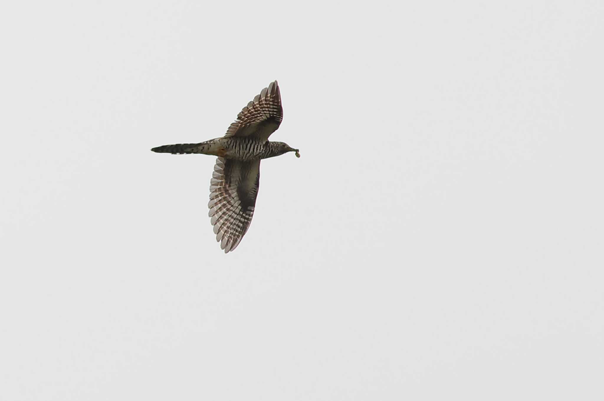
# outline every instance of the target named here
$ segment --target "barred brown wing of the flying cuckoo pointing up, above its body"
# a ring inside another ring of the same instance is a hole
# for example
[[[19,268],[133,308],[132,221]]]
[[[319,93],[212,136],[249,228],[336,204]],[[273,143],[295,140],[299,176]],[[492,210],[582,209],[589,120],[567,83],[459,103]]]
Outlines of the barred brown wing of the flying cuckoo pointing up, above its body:
[[[225,137],[252,135],[265,142],[277,131],[282,119],[281,93],[277,81],[274,81],[237,114],[237,120],[226,130]]]

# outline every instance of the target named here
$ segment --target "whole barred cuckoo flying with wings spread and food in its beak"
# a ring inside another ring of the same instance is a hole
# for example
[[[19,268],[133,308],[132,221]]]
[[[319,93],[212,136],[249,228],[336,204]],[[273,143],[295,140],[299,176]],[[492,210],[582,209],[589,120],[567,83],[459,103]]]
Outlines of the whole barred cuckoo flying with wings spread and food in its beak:
[[[271,82],[237,114],[223,137],[200,143],[178,143],[151,149],[175,155],[217,156],[210,180],[210,222],[225,253],[234,250],[248,231],[260,184],[260,160],[300,151],[284,142],[269,141],[283,119],[281,93]]]

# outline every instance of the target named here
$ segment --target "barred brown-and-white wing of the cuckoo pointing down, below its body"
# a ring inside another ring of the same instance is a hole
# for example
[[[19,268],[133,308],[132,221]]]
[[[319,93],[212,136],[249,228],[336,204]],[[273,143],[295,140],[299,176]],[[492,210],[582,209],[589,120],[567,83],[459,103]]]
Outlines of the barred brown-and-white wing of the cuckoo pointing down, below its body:
[[[248,231],[260,184],[260,160],[219,157],[210,181],[211,223],[220,248],[230,252]]]

